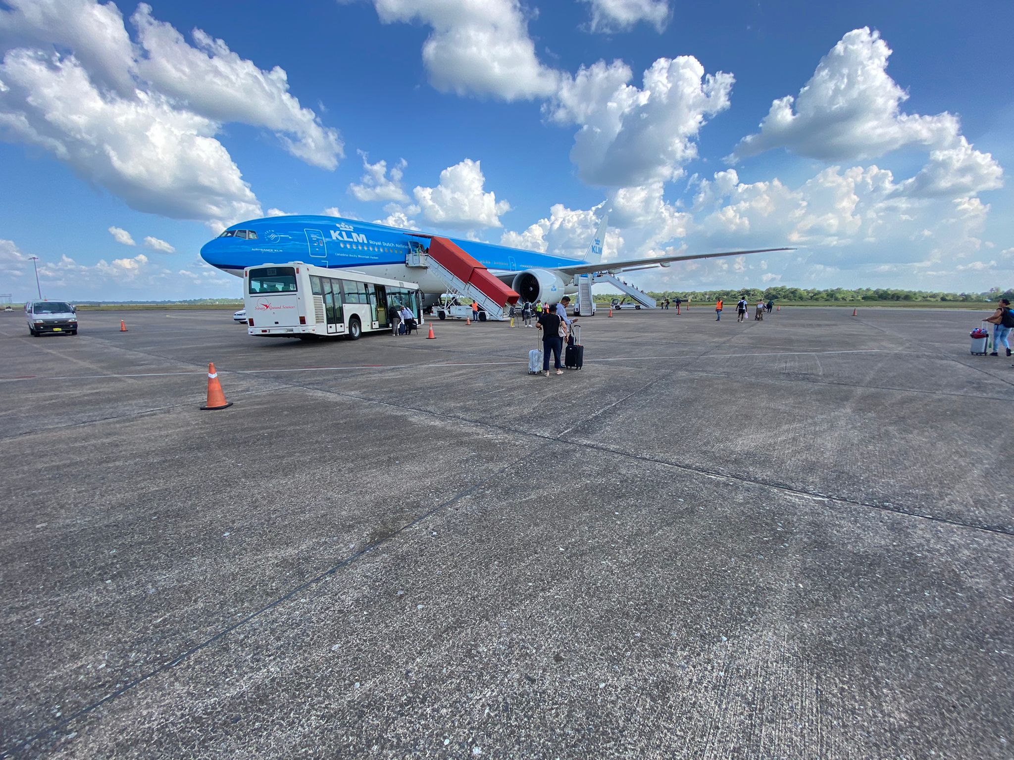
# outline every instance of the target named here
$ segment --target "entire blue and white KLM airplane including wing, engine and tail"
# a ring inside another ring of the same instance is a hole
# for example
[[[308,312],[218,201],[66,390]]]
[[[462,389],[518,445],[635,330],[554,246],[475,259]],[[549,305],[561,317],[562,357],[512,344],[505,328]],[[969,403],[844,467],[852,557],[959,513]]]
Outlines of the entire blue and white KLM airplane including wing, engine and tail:
[[[602,263],[602,241],[606,218],[581,259],[538,253],[504,245],[448,238],[478,259],[490,274],[509,285],[522,301],[556,301],[577,291],[576,278],[592,273],[618,274],[630,270],[668,267],[672,261],[738,256],[790,248],[731,250],[720,253],[683,253],[672,256],[635,258]],[[444,284],[419,268],[410,269],[406,257],[425,249],[431,235],[340,217],[282,216],[234,224],[201,248],[201,256],[213,267],[236,277],[246,267],[263,263],[303,261],[331,269],[354,269],[367,275],[418,283],[435,301]]]

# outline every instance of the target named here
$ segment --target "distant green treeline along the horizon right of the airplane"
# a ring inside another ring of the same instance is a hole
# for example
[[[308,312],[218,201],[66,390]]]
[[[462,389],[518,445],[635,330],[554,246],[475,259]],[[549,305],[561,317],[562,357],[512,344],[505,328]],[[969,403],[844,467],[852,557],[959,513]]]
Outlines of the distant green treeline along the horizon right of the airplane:
[[[608,303],[613,298],[619,298],[620,293],[596,293],[595,301]],[[790,301],[797,303],[805,302],[830,302],[830,301],[904,301],[904,302],[925,302],[925,303],[983,303],[984,301],[997,301],[1000,298],[1009,298],[1014,301],[1014,288],[1001,290],[992,288],[986,293],[943,293],[940,291],[923,290],[898,290],[897,288],[827,288],[817,290],[815,288],[788,288],[785,286],[775,286],[773,288],[727,288],[723,290],[703,290],[703,291],[649,291],[654,299],[669,298],[676,296],[686,300],[690,297],[693,301],[717,301],[719,298],[725,301],[738,301],[745,297],[747,301]]]

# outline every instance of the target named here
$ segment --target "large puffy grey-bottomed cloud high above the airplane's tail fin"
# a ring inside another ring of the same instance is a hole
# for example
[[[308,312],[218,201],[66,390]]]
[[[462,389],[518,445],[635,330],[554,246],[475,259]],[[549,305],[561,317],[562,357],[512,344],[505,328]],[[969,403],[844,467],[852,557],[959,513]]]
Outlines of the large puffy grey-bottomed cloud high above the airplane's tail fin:
[[[643,88],[628,84],[622,61],[582,67],[545,110],[557,124],[580,127],[571,160],[590,184],[631,187],[668,181],[697,157],[694,142],[708,117],[729,107],[731,74],[705,74],[693,56],[660,58]]]

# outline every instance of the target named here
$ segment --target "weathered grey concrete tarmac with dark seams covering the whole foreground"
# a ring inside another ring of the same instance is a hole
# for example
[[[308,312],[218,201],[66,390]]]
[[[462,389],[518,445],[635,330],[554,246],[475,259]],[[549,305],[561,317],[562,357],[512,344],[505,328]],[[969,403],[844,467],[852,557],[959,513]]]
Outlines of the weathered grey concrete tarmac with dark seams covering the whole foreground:
[[[851,313],[0,314],[0,755],[1014,756],[1014,360]]]

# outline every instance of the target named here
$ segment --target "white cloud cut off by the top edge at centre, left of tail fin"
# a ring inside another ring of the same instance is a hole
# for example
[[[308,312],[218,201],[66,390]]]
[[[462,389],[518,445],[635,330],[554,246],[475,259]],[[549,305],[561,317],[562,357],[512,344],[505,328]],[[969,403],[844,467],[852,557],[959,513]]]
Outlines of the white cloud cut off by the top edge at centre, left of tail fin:
[[[545,97],[559,74],[544,66],[518,0],[373,0],[383,23],[419,21],[430,82],[443,92],[505,100]]]

